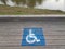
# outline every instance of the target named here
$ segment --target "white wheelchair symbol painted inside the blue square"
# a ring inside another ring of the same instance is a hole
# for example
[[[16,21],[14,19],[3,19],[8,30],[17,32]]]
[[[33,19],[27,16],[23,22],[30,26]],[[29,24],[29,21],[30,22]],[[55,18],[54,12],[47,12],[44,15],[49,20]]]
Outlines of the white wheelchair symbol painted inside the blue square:
[[[32,38],[32,40],[29,40],[29,38]],[[28,44],[34,44],[34,42],[39,42],[40,39],[37,39],[37,37],[35,36],[35,34],[31,32],[31,29],[29,29],[29,35],[26,36],[26,41]]]

